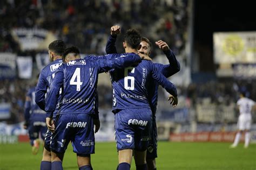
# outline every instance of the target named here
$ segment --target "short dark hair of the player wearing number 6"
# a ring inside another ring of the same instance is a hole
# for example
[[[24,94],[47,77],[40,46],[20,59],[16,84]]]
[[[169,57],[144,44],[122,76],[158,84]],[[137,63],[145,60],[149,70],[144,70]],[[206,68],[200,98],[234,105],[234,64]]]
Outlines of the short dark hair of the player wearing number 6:
[[[129,29],[124,35],[124,40],[129,47],[138,49],[142,37],[140,36],[139,31],[135,29]]]

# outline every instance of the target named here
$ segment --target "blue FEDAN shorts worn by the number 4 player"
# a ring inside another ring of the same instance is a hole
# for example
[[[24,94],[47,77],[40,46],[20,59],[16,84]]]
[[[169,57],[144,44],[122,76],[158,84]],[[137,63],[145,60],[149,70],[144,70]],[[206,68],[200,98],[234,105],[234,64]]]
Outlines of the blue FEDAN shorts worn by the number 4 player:
[[[55,120],[51,151],[64,153],[72,142],[73,152],[79,155],[95,153],[93,118],[89,114],[62,114]]]

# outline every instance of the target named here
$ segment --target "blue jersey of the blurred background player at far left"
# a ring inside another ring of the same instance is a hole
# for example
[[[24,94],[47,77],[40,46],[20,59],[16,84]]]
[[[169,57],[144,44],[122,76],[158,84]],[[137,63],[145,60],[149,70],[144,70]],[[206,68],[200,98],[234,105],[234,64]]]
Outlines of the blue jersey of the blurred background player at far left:
[[[35,90],[36,87],[31,87],[26,94],[27,97],[31,99],[25,105],[25,119],[27,122],[45,122],[46,112],[39,108],[35,102]],[[26,111],[26,109],[28,109]]]

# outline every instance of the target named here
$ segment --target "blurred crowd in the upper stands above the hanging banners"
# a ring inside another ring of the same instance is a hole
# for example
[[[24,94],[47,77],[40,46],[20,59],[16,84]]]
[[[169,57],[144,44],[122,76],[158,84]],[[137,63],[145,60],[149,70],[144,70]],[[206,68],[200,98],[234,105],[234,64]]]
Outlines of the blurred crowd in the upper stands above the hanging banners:
[[[165,40],[178,54],[186,41],[186,8],[185,0],[4,0],[0,2],[0,52],[19,52],[11,29],[36,27],[78,46],[82,53],[104,54],[110,27],[119,24],[122,32],[132,27],[152,42]],[[118,51],[123,51],[121,42]]]

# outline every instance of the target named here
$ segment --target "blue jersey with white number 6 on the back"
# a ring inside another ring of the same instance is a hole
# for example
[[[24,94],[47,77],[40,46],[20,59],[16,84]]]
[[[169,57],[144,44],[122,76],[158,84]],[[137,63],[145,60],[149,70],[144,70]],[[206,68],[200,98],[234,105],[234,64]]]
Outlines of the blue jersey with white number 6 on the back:
[[[135,67],[111,70],[113,88],[113,112],[122,109],[150,108],[147,89],[154,88],[156,80],[168,93],[177,96],[174,84],[159,72],[152,61],[143,60]]]

